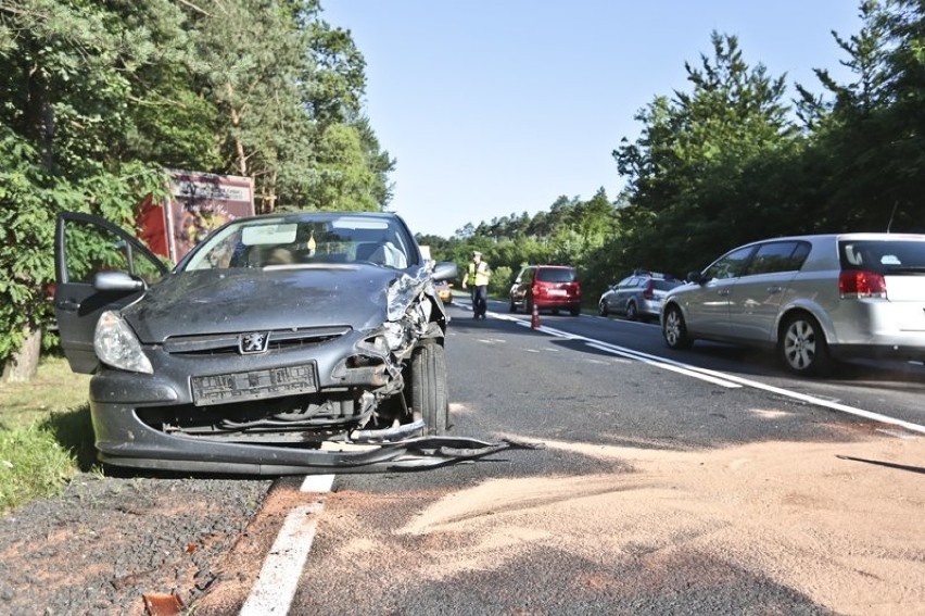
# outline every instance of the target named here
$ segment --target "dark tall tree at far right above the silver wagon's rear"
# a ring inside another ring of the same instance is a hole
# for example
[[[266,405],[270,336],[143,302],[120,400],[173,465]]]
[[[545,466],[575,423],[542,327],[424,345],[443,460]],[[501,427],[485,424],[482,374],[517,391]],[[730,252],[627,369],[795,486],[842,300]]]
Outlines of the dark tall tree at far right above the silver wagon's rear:
[[[818,68],[824,96],[797,87],[799,116],[811,130],[802,161],[809,169],[804,203],[813,213],[809,230],[883,230],[897,210],[901,226],[911,223],[918,191],[910,192],[907,181],[921,172],[922,160],[909,139],[915,135],[909,110],[899,111],[904,97],[898,86],[905,77],[898,60],[907,46],[899,43],[891,5],[864,1],[861,30],[848,38],[833,33],[847,55],[841,63],[851,71],[848,84]]]

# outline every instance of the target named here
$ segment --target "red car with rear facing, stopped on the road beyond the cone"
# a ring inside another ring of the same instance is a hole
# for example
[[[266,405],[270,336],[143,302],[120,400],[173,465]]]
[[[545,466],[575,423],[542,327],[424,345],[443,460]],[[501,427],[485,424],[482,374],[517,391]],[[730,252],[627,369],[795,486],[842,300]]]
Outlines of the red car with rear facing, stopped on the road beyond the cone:
[[[572,316],[581,314],[581,280],[574,267],[568,265],[528,265],[510,287],[510,312],[522,307],[532,313],[533,306],[558,314],[567,310]]]

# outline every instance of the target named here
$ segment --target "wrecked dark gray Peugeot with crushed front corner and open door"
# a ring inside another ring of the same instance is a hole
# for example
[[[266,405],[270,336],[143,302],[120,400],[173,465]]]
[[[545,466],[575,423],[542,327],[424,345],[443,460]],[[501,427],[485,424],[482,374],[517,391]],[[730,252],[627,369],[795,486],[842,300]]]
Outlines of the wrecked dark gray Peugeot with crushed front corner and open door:
[[[63,213],[55,316],[105,464],[225,474],[432,467],[520,445],[451,427],[434,281],[388,213],[231,221],[173,269]]]

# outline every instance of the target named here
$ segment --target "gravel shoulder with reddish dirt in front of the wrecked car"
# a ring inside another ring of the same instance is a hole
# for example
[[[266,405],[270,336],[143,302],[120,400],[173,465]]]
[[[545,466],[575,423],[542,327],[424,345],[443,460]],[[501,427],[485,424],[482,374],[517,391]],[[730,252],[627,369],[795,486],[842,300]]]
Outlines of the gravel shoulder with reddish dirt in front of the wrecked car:
[[[103,477],[0,519],[0,613],[148,614],[183,606],[233,571],[220,557],[246,533],[269,479]]]

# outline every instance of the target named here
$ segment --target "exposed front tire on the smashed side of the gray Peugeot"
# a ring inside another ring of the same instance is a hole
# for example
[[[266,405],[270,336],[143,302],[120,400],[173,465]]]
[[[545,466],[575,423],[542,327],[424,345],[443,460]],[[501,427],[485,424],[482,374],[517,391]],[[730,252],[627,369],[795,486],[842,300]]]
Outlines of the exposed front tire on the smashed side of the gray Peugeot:
[[[449,399],[446,393],[446,354],[436,342],[426,342],[411,355],[411,411],[420,413],[425,435],[442,435],[449,429]]]

